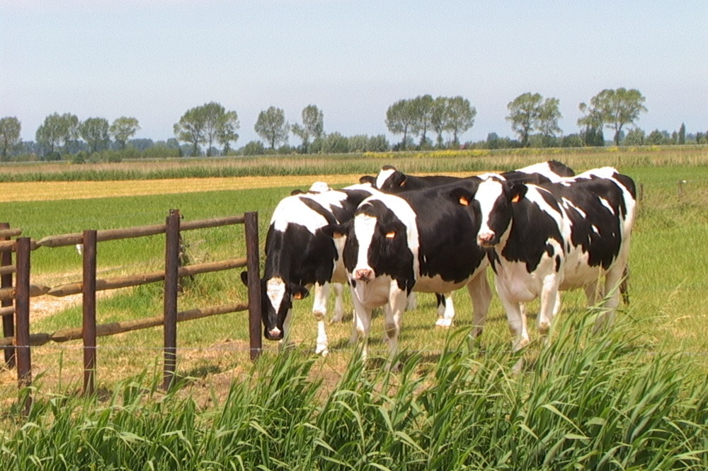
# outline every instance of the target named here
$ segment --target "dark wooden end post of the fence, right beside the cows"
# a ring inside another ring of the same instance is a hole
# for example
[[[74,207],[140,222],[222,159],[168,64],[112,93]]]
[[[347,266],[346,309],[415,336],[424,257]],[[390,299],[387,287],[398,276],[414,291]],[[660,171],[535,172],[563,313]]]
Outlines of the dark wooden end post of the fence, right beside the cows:
[[[261,328],[261,267],[258,259],[258,213],[244,214],[246,226],[246,267],[249,271],[249,337],[251,361],[261,355],[263,331]]]

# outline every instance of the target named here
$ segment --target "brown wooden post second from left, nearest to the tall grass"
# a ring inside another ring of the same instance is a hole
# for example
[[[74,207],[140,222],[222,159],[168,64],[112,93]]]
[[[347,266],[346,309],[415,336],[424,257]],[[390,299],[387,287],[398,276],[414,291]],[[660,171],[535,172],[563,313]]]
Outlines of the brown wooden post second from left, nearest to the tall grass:
[[[19,388],[32,384],[30,359],[30,238],[21,237],[15,245],[17,272],[15,294],[15,356]],[[32,405],[31,395],[23,407],[25,414]]]

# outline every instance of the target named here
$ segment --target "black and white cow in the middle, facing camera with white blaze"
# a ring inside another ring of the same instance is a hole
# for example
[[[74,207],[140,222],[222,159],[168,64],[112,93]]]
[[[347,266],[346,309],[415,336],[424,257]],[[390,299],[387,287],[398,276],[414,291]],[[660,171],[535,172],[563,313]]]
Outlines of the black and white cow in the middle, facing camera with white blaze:
[[[479,223],[457,200],[455,187],[476,190],[479,179],[365,199],[353,220],[322,229],[346,236],[344,264],[355,311],[353,334],[366,339],[374,308],[384,307],[389,361],[398,347],[401,315],[411,291],[449,293],[467,286],[479,335],[491,300],[486,252],[466,234]],[[362,354],[366,355],[366,342]]]

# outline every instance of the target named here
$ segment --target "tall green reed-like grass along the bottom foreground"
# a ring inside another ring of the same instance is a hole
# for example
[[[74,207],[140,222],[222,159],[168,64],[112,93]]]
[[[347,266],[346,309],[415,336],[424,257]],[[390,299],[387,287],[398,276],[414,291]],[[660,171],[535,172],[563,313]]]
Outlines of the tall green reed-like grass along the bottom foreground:
[[[401,373],[353,356],[329,390],[299,351],[254,366],[217,407],[142,376],[96,405],[52,397],[6,431],[2,469],[669,470],[708,468],[708,382],[671,355],[637,351],[632,325],[591,335],[564,320],[518,356],[464,350]],[[538,347],[538,346],[536,346]],[[535,348],[535,347],[532,347]],[[421,374],[421,368],[430,368]]]

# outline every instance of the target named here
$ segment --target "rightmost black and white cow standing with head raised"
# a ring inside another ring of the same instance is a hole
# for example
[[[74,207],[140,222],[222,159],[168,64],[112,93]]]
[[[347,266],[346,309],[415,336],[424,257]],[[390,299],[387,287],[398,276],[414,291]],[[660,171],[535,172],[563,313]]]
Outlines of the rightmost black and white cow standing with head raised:
[[[540,298],[542,335],[558,312],[559,291],[582,288],[590,304],[607,296],[608,313],[617,308],[636,216],[631,178],[610,167],[540,186],[489,176],[476,191],[460,187],[452,195],[481,215],[474,239],[490,250],[515,350],[529,342],[521,303]]]

